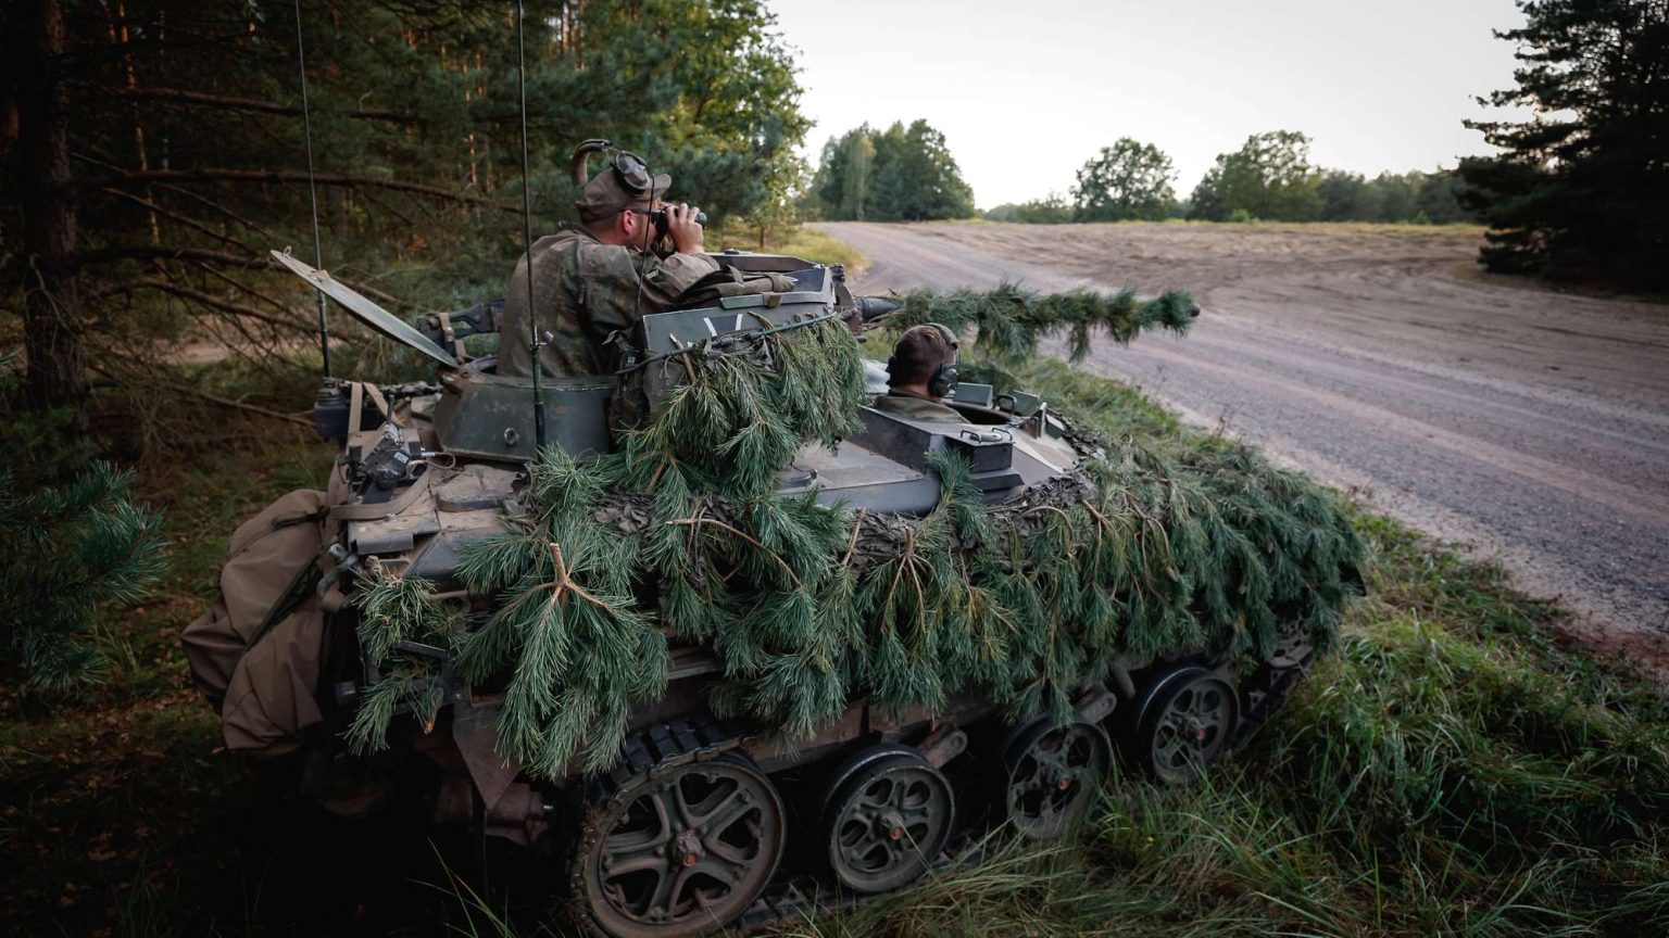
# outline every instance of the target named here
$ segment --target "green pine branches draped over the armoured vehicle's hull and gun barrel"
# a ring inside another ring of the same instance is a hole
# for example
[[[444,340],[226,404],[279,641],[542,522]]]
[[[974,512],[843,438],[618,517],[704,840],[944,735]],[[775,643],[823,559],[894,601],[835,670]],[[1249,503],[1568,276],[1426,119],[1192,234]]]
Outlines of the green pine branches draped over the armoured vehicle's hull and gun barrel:
[[[958,297],[985,309],[981,335],[1015,334],[1003,312],[1038,305]],[[1123,312],[1095,325],[1118,340],[1182,330],[1183,300],[1103,302]],[[1035,319],[1025,330],[1048,332]],[[1245,447],[1125,442],[995,506],[965,462],[936,457],[931,512],[876,516],[776,492],[801,442],[853,432],[868,401],[843,324],[686,362],[689,381],[619,452],[541,452],[506,532],[459,571],[499,598],[489,621],[466,629],[424,603],[429,584],[364,584],[361,644],[386,676],[354,724],[359,746],[384,744],[399,703],[419,719],[442,703],[432,664],[402,658],[399,639],[452,649],[471,681],[507,676],[501,753],[557,778],[576,758],[614,761],[631,704],[666,686],[669,641],[719,651],[714,711],[809,736],[863,694],[903,709],[975,691],[1063,719],[1120,656],[1267,654],[1292,621],[1320,646],[1337,633],[1362,544],[1325,491]]]

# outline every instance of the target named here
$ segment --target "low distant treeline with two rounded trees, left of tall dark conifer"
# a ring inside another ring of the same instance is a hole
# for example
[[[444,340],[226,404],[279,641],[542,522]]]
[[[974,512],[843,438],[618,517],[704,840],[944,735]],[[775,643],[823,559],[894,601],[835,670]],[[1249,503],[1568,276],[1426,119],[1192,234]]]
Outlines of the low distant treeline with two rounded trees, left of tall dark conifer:
[[[1217,162],[1188,199],[1173,189],[1170,157],[1130,137],[1102,147],[1078,169],[1070,197],[1050,194],[985,212],[998,222],[1412,222],[1472,220],[1454,172],[1384,172],[1374,179],[1310,164],[1310,139],[1293,130],[1255,134]]]

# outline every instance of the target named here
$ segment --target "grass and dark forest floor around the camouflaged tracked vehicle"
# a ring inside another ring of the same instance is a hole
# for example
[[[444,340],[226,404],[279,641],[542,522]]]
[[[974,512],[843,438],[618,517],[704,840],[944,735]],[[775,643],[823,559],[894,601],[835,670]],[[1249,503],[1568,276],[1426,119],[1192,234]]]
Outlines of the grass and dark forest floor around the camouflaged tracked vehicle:
[[[1113,381],[1013,376],[1113,436],[1218,446]],[[0,689],[0,933],[516,931],[456,875],[464,845],[409,823],[327,823],[219,751],[179,629],[239,521],[320,484],[289,431],[154,459],[172,572],[100,641],[110,681]],[[1110,786],[1066,843],[978,866],[793,935],[1661,935],[1669,928],[1669,713],[1552,636],[1567,613],[1387,517],[1369,599],[1334,656],[1207,781]],[[537,933],[537,916],[516,916]]]

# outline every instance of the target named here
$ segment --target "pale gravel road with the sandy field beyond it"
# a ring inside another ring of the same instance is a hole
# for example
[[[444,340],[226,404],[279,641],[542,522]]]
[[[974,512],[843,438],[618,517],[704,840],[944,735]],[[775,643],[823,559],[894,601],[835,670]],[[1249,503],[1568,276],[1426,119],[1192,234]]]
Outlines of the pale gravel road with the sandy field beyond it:
[[[1475,235],[1278,225],[824,224],[865,292],[1182,287],[1185,339],[1085,362],[1561,598],[1669,664],[1669,307],[1475,270]]]

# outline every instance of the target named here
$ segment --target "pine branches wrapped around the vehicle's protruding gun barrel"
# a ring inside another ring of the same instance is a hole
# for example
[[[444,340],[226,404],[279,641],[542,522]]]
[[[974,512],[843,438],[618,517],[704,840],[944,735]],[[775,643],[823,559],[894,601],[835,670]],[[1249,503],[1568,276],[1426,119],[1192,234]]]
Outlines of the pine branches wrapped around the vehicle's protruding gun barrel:
[[[901,307],[890,312],[886,325],[908,329],[923,322],[940,322],[956,334],[978,329],[978,347],[998,362],[1030,357],[1038,340],[1066,334],[1073,362],[1090,354],[1095,334],[1105,334],[1128,345],[1147,329],[1188,330],[1198,307],[1182,290],[1168,290],[1153,299],[1138,299],[1135,287],[1115,294],[1078,289],[1066,294],[1038,295],[1018,284],[1000,284],[991,290],[961,289],[948,294],[910,290],[898,297]]]

